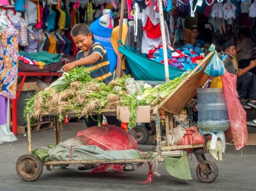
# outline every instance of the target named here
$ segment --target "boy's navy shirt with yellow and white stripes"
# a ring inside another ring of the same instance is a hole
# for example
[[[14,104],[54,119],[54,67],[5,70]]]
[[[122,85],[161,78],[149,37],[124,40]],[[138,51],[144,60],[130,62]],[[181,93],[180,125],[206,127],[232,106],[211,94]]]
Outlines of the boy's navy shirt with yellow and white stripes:
[[[95,80],[109,83],[109,81],[111,81],[113,78],[113,74],[110,73],[110,64],[107,57],[107,51],[102,44],[93,41],[88,55],[92,55],[93,53],[98,53],[98,55],[100,55],[100,59],[93,64],[86,65],[86,67],[90,67],[89,71],[91,72],[91,77]],[[82,58],[84,58],[84,51],[80,50],[77,53],[77,60],[80,60]]]

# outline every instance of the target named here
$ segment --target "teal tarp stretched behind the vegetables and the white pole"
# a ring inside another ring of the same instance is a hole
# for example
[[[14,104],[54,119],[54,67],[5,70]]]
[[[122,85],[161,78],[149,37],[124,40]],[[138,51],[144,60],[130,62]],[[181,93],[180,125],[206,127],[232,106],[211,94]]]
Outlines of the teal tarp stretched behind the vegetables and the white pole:
[[[160,62],[151,60],[145,55],[136,53],[136,50],[126,45],[118,46],[118,51],[126,56],[126,61],[130,67],[135,80],[144,81],[164,81],[165,66]],[[185,71],[169,66],[170,80],[181,76]]]

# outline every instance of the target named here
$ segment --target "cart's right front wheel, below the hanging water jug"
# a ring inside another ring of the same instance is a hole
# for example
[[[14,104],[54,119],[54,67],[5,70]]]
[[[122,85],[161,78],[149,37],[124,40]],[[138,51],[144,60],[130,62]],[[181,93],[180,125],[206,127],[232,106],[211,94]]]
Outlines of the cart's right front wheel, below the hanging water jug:
[[[198,165],[196,169],[197,178],[204,183],[211,183],[218,177],[218,167],[214,162],[209,160],[205,160],[204,163],[206,164],[209,173],[204,173]]]

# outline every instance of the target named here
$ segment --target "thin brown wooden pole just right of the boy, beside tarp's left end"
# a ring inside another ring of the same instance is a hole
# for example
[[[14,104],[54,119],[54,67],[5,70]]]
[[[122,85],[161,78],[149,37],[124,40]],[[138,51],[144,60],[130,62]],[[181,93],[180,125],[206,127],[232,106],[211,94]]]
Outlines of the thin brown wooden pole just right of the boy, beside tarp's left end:
[[[124,18],[124,0],[121,0],[121,13],[120,13],[120,23],[119,23],[119,39],[122,39],[123,33],[123,18]],[[121,77],[121,65],[122,65],[123,54],[121,52],[117,53],[117,66],[116,66],[116,77]]]

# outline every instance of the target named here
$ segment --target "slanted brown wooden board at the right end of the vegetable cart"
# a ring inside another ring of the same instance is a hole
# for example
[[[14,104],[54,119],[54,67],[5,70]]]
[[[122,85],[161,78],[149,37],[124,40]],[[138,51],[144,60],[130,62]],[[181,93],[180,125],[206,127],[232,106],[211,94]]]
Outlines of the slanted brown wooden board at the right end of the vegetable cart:
[[[180,111],[183,110],[186,104],[195,96],[197,88],[204,85],[209,78],[209,76],[204,74],[204,69],[213,54],[214,52],[210,52],[204,60],[188,74],[172,93],[160,103],[160,108],[174,114],[179,114]],[[202,69],[200,69],[200,67],[202,67]]]

